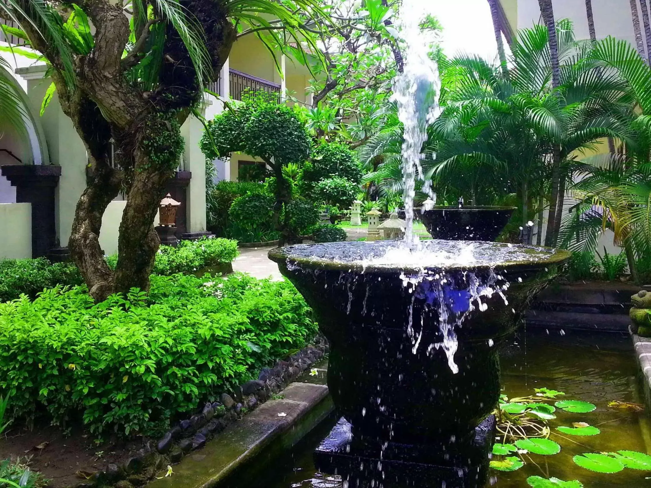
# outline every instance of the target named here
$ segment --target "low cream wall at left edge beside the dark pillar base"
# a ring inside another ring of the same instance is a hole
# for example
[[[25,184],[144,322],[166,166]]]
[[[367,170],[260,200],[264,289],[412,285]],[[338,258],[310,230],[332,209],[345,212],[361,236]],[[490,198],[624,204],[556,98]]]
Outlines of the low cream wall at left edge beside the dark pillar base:
[[[0,204],[0,258],[32,257],[32,204]]]

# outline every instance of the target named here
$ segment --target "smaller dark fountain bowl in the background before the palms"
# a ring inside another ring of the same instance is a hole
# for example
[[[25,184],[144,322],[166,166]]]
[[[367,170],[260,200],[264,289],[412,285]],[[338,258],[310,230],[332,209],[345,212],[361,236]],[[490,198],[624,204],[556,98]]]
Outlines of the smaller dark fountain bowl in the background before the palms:
[[[452,241],[495,241],[508,224],[516,207],[436,206],[415,212],[434,239]]]

